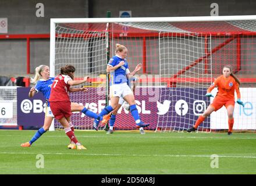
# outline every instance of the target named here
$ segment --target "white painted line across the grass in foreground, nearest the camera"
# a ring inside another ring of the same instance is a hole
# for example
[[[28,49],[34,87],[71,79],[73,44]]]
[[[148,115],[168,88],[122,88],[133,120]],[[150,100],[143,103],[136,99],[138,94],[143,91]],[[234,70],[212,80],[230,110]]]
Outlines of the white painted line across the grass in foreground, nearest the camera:
[[[49,153],[40,152],[42,155],[79,155],[79,156],[160,156],[160,157],[199,157],[199,158],[210,158],[211,155],[122,155],[122,154],[108,154],[108,153]],[[0,152],[0,154],[29,154],[37,155],[35,152]],[[230,156],[230,155],[219,155],[219,158],[250,158],[256,159],[256,156]]]

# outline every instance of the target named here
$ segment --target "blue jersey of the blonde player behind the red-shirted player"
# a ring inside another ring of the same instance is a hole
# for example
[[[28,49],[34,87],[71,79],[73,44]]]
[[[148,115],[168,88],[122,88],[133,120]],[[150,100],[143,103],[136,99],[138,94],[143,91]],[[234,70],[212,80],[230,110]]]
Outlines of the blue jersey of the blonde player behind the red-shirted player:
[[[51,94],[51,86],[52,83],[54,83],[54,77],[50,77],[49,80],[39,80],[37,81],[37,84],[35,85],[35,90],[38,92],[42,92],[44,95],[44,98],[49,100],[50,94]],[[49,102],[48,105],[49,106]]]

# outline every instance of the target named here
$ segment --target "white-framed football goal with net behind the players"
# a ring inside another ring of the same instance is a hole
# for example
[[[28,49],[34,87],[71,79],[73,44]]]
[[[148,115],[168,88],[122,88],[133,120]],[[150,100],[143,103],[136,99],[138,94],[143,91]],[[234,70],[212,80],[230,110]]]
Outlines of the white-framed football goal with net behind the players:
[[[212,99],[205,97],[223,66],[233,66],[241,80],[234,130],[255,130],[256,16],[148,17],[109,19],[51,19],[51,75],[67,64],[76,67],[75,78],[90,76],[88,92],[70,94],[95,113],[108,103],[106,64],[117,43],[128,49],[130,71],[143,69],[134,92],[138,112],[150,130],[184,131],[193,126]],[[216,88],[212,94],[216,95]],[[72,115],[76,129],[92,129],[93,119]],[[55,127],[61,126],[55,121]],[[115,128],[135,129],[133,117],[119,109]],[[226,130],[225,108],[212,113],[199,131]]]

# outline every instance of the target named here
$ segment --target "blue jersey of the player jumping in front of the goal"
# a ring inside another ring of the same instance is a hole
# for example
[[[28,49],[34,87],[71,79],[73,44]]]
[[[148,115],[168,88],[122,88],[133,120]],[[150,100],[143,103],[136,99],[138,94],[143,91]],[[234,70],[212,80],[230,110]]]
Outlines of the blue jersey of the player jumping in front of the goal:
[[[127,83],[127,78],[126,78],[126,69],[129,69],[128,63],[126,59],[119,58],[118,56],[113,56],[109,62],[109,66],[116,66],[120,62],[124,61],[125,65],[119,67],[118,69],[111,71],[110,73],[110,85],[113,84],[122,84],[122,83]]]

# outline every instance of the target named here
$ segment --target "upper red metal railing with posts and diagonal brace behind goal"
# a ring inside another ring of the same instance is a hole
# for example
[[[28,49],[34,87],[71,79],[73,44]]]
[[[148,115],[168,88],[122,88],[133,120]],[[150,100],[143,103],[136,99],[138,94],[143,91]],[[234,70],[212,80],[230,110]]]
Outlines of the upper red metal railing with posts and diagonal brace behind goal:
[[[162,35],[166,35],[167,33],[163,33]],[[194,62],[192,62],[189,66],[184,67],[182,70],[179,70],[176,74],[173,75],[173,78],[177,78],[179,75],[183,74],[185,71],[189,70],[191,67],[197,65],[200,62],[205,62],[205,73],[208,73],[208,56],[212,55],[215,52],[218,52],[220,49],[225,47],[227,44],[230,42],[236,40],[236,69],[234,69],[234,73],[237,71],[241,70],[241,37],[244,36],[255,36],[255,33],[251,32],[244,32],[244,33],[236,33],[236,34],[230,34],[229,37],[227,38],[224,42],[213,48],[211,51],[208,51],[208,40],[207,40],[207,35],[211,34],[212,37],[220,37],[224,36],[224,33],[203,33],[205,35],[205,55],[202,56],[201,58],[198,58]],[[225,33],[226,35],[227,33]],[[187,34],[182,34],[180,33],[172,33],[174,37],[186,37]],[[202,36],[203,36],[202,35]],[[233,36],[232,36],[233,35]],[[158,33],[129,33],[125,37],[142,37],[143,38],[143,73],[147,73],[147,45],[146,45],[146,38],[149,37],[158,37]],[[63,35],[63,37],[83,37],[82,34],[76,35],[76,34],[66,34]],[[93,34],[91,34],[91,37],[94,37]],[[111,37],[118,38],[122,37],[118,34],[113,34]],[[0,35],[0,40],[26,40],[27,41],[27,74],[30,74],[30,40],[32,39],[49,39],[50,35],[49,34],[6,34],[6,35]]]

